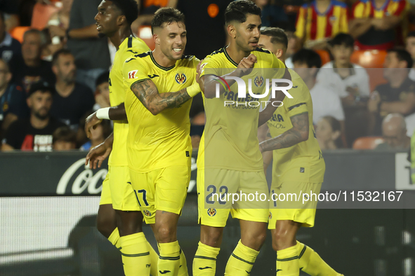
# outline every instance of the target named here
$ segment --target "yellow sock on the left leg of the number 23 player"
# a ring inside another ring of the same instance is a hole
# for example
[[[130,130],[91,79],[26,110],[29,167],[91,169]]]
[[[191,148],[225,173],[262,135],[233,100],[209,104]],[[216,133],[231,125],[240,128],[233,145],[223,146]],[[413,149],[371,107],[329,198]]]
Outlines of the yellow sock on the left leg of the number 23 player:
[[[195,258],[193,258],[193,276],[214,276],[219,251],[220,248],[209,247],[199,242]]]

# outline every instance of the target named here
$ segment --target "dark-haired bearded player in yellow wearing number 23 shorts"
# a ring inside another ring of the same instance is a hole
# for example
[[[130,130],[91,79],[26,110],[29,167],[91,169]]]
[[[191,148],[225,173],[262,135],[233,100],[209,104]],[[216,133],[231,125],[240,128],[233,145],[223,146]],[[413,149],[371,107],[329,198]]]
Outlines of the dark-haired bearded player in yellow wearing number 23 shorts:
[[[262,72],[272,71],[275,78],[290,78],[283,62],[268,50],[257,48],[261,28],[258,6],[251,1],[234,1],[226,8],[225,22],[230,44],[203,60],[199,79],[204,92],[206,125],[197,158],[201,235],[193,261],[195,276],[215,275],[216,257],[229,213],[239,219],[241,240],[229,258],[225,275],[249,275],[265,241],[268,222],[268,202],[231,206],[228,199],[214,197],[213,193],[268,194],[257,132],[258,125],[271,118],[279,104],[272,102],[260,113],[259,107],[251,104],[251,97],[240,98],[241,95],[234,92],[239,90],[235,81],[228,81],[230,89],[217,86],[220,97],[216,96],[216,80],[218,76],[251,76],[256,71],[256,86],[265,88],[263,75],[258,75]],[[225,68],[232,72],[226,76],[220,74],[220,69]],[[284,99],[281,91],[275,96],[275,101]],[[227,99],[237,102],[238,106],[224,106]]]

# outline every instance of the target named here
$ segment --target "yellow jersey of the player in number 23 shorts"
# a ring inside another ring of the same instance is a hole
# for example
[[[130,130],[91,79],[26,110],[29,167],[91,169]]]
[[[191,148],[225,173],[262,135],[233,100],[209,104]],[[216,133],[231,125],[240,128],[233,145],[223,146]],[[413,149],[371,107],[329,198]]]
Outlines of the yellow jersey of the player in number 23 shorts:
[[[265,88],[266,74],[272,73],[275,78],[284,76],[284,70],[280,69],[285,68],[284,63],[268,50],[257,48],[251,53],[256,55],[257,62],[252,73],[242,77],[245,83],[248,83],[246,79],[251,78],[251,84],[253,82],[258,89],[263,89]],[[222,48],[204,59],[201,65],[201,76],[213,73],[223,76],[223,70],[220,69],[230,69],[226,71],[227,74],[235,70],[237,66],[237,62],[230,58],[225,48]],[[275,72],[277,72],[276,75]],[[220,97],[204,98],[206,125],[197,157],[199,169],[217,168],[245,172],[261,172],[263,170],[263,160],[257,137],[260,108],[259,106],[248,106],[249,102],[254,100],[249,97],[248,91],[246,91],[247,97],[242,99],[238,98],[237,91],[237,83],[234,83],[230,86],[230,90]],[[227,100],[235,101],[241,105],[225,106],[224,102]],[[261,99],[255,100],[261,102]],[[265,101],[265,99],[262,100]]]

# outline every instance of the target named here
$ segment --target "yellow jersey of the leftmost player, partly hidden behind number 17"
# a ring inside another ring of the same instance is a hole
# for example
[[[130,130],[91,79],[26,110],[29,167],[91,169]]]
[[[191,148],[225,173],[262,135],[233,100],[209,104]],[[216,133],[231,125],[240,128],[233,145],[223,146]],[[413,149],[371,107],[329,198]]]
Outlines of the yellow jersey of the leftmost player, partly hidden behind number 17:
[[[126,88],[122,77],[122,66],[124,61],[131,55],[144,53],[149,50],[147,44],[141,39],[130,36],[122,41],[117,53],[115,53],[114,64],[110,71],[110,103],[111,106],[117,106],[124,102],[126,97]],[[125,120],[114,120],[114,144],[108,160],[111,166],[126,166],[127,148],[126,137],[129,132],[128,122]]]

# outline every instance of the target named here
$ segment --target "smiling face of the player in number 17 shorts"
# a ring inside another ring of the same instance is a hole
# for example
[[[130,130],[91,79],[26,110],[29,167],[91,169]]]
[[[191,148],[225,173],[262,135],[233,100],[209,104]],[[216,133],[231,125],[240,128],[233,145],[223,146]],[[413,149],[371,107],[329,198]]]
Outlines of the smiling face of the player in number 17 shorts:
[[[161,28],[155,30],[156,44],[169,60],[180,60],[185,53],[187,42],[186,26],[183,22],[163,23]]]

